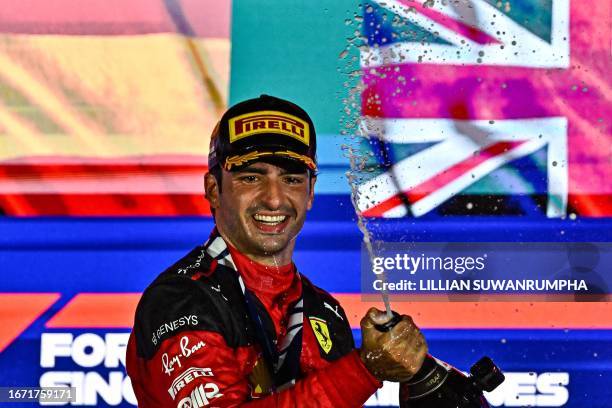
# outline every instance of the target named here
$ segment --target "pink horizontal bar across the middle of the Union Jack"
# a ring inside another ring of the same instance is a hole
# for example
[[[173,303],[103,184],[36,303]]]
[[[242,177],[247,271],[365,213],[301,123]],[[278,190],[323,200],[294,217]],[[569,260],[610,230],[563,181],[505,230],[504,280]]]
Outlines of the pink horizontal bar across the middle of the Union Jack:
[[[521,119],[566,116],[569,111],[587,118],[606,117],[612,89],[602,81],[591,85],[593,79],[586,75],[521,67],[387,65],[364,72],[362,109],[364,116],[396,118]],[[368,98],[374,95],[380,99]],[[556,99],[572,103],[551,103]],[[600,133],[598,128],[610,130],[612,125],[593,123],[589,130]]]

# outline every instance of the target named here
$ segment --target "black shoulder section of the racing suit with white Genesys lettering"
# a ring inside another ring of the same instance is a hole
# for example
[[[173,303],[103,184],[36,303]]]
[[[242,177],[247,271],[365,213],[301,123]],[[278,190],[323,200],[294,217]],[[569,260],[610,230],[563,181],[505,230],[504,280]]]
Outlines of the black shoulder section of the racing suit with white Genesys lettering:
[[[252,325],[235,274],[197,247],[162,272],[145,289],[134,321],[136,351],[151,358],[161,343],[178,333],[219,333],[229,347],[253,343]]]

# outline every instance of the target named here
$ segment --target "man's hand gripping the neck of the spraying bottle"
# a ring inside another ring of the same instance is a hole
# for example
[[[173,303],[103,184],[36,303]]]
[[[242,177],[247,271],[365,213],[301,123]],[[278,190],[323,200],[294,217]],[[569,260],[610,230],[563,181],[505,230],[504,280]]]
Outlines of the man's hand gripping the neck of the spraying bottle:
[[[388,320],[386,313],[374,307],[361,319],[361,359],[381,381],[408,381],[423,365],[427,343],[410,316],[402,315],[388,332],[374,327]]]

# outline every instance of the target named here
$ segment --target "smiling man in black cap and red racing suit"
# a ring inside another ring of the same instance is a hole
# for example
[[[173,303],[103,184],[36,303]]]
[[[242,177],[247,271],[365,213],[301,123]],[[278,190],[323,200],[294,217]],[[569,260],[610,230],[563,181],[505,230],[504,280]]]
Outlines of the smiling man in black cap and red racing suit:
[[[291,102],[262,95],[223,115],[205,176],[216,228],[136,311],[127,371],[139,406],[357,407],[418,371],[427,346],[408,316],[383,333],[371,309],[355,350],[338,302],[292,263],[315,153],[312,121]]]

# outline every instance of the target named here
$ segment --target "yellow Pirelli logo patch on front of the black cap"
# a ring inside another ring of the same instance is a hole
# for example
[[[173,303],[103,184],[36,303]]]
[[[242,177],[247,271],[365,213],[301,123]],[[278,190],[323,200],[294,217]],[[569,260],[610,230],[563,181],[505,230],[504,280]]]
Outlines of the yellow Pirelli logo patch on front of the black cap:
[[[229,120],[230,143],[258,133],[280,133],[310,144],[308,123],[296,116],[278,111],[258,111]]]

